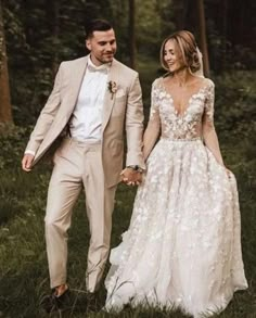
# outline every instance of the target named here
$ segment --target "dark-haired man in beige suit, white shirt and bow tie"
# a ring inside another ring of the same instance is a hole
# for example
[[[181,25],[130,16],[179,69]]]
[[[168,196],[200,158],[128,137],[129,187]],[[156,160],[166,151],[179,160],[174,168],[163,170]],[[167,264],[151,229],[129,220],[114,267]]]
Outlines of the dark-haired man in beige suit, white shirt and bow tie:
[[[22,161],[23,169],[30,171],[67,127],[69,137],[53,157],[44,219],[53,289],[51,300],[55,301],[64,298],[68,291],[67,229],[82,186],[91,234],[87,291],[94,293],[110,251],[117,183],[120,180],[138,183],[144,168],[141,152],[143,109],[138,73],[114,59],[116,39],[108,22],[92,21],[86,31],[90,54],[61,63],[54,88]],[[127,157],[121,171],[125,131]]]

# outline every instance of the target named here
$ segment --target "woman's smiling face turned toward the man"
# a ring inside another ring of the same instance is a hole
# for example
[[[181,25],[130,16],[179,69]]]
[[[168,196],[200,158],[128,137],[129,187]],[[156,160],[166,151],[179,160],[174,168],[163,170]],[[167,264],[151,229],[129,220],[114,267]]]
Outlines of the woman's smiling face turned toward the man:
[[[164,61],[171,73],[175,73],[184,67],[180,50],[174,40],[168,40],[165,43]]]

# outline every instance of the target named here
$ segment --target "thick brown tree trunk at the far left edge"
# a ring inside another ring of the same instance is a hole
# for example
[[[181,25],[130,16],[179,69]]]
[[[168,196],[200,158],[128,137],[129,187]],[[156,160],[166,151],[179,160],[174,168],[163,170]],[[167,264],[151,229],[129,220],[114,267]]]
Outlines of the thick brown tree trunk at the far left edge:
[[[1,0],[0,0],[0,123],[4,123],[4,124],[13,123]]]

